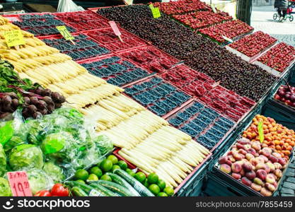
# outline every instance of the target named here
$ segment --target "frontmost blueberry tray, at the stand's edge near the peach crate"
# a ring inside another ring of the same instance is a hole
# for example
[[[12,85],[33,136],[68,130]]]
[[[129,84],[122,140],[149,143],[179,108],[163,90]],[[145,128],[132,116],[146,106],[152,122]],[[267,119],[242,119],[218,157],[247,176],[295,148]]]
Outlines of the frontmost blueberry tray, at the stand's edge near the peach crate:
[[[173,115],[168,122],[209,149],[221,141],[235,124],[196,101]]]

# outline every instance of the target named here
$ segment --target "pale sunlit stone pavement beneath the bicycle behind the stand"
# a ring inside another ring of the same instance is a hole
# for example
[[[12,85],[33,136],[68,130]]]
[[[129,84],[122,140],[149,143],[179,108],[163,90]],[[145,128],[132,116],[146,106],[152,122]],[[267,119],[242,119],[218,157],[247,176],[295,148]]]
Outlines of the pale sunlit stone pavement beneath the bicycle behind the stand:
[[[252,10],[251,25],[255,30],[261,30],[276,37],[279,41],[295,46],[295,14],[293,22],[289,19],[284,23],[273,20],[276,13],[273,6],[254,6]]]

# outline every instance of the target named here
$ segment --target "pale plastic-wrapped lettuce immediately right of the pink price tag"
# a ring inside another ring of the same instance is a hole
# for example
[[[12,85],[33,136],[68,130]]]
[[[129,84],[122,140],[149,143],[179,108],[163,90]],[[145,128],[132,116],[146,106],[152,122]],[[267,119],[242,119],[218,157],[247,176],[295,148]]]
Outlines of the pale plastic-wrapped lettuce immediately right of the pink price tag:
[[[43,170],[33,168],[25,171],[27,172],[30,190],[33,194],[41,190],[52,188],[54,182]]]

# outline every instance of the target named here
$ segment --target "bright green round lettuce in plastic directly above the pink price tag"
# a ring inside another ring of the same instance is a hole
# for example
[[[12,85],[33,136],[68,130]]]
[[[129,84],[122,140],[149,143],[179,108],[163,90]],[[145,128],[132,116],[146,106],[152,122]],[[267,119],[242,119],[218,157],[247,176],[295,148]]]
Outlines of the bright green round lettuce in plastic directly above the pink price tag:
[[[43,154],[39,147],[32,144],[21,144],[12,149],[9,155],[9,165],[12,170],[24,167],[43,167]]]

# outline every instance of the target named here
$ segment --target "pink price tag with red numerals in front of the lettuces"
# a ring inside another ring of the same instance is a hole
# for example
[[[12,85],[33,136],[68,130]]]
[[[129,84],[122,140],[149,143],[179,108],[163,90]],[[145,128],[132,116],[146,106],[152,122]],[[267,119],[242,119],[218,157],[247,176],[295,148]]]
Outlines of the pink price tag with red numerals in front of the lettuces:
[[[13,196],[33,196],[27,172],[7,172],[7,177]]]

